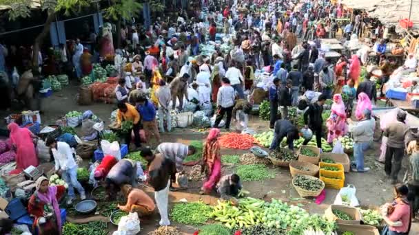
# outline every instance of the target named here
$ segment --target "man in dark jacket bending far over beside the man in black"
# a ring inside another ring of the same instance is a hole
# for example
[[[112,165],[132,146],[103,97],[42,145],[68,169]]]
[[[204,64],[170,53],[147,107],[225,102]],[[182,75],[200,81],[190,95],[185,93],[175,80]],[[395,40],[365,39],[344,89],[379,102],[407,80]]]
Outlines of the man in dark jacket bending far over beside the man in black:
[[[269,150],[276,150],[280,147],[280,142],[287,137],[287,144],[290,150],[294,150],[294,139],[299,139],[298,130],[289,120],[277,120],[275,122],[274,139],[272,139]]]

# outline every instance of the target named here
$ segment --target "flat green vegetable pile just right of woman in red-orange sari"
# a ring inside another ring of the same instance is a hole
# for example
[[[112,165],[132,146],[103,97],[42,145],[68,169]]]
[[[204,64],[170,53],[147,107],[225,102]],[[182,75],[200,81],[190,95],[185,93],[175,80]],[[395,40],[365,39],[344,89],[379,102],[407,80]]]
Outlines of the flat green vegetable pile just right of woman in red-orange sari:
[[[237,167],[236,172],[241,181],[263,181],[275,177],[275,173],[270,172],[263,164],[241,165]]]

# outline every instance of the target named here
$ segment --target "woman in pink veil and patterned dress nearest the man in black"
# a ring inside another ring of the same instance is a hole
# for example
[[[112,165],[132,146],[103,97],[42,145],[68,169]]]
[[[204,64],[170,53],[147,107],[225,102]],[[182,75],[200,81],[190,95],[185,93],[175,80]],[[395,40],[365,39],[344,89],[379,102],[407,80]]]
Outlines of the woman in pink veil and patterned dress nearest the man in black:
[[[333,96],[333,104],[331,104],[330,117],[327,120],[327,142],[332,143],[334,139],[347,133],[345,104],[343,104],[342,96],[336,94]]]

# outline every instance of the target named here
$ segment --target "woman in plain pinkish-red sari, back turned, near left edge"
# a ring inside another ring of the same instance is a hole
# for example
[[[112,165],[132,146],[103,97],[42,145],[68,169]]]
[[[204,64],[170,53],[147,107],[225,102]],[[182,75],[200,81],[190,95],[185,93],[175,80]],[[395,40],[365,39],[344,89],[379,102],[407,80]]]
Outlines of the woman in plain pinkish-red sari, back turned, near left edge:
[[[29,166],[37,167],[39,161],[32,138],[36,138],[28,128],[20,128],[12,122],[8,125],[10,131],[10,140],[16,150],[16,170],[12,170],[10,175],[19,174]]]

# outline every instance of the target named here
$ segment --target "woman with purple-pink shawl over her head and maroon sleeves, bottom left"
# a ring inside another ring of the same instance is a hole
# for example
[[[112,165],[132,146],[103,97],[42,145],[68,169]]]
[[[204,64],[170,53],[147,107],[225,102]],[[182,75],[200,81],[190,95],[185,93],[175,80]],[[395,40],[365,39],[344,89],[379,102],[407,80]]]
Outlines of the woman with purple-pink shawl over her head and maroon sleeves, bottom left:
[[[63,197],[65,186],[49,186],[46,177],[39,177],[36,191],[29,199],[28,212],[35,217],[33,228],[39,235],[61,234],[61,213],[59,199]]]

